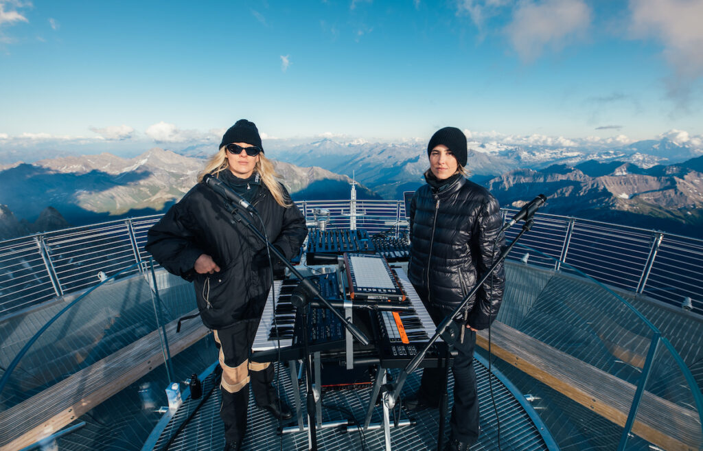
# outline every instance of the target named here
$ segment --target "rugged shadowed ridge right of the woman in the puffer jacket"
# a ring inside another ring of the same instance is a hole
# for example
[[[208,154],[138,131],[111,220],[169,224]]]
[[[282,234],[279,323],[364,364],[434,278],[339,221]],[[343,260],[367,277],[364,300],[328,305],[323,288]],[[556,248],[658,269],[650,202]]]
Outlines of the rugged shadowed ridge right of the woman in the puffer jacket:
[[[600,163],[517,169],[486,183],[503,207],[547,196],[540,211],[703,236],[703,157],[681,164]]]

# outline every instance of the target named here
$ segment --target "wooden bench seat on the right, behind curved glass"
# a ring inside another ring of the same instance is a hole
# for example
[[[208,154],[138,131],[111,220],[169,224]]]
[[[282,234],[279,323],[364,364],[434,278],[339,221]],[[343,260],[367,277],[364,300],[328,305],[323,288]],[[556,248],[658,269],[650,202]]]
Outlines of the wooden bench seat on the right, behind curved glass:
[[[627,420],[636,386],[586,364],[542,341],[494,322],[491,352],[619,426]],[[477,344],[488,348],[488,332],[477,334]],[[645,392],[633,433],[665,450],[700,448],[698,413]]]

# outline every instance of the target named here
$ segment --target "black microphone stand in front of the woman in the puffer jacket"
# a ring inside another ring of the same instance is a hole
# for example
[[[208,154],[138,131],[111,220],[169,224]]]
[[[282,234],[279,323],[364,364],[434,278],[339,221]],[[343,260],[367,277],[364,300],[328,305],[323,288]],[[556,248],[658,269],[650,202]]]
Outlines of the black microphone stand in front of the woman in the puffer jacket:
[[[430,350],[432,345],[434,344],[437,339],[441,336],[441,338],[445,341],[447,347],[446,347],[446,358],[444,360],[444,364],[446,365],[445,367],[445,377],[449,378],[449,359],[451,358],[451,350],[453,348],[454,342],[456,342],[456,339],[458,336],[460,336],[460,331],[456,328],[456,325],[453,322],[453,318],[459,318],[460,317],[460,312],[463,311],[465,308],[466,304],[469,302],[469,299],[478,291],[479,287],[483,285],[483,283],[490,277],[490,275],[496,270],[498,267],[498,264],[500,264],[503,260],[505,260],[505,257],[510,254],[510,251],[512,250],[512,247],[515,246],[518,240],[527,233],[530,228],[532,228],[532,225],[534,224],[534,219],[532,216],[529,216],[525,218],[525,222],[522,225],[522,230],[520,233],[517,234],[514,240],[510,243],[508,247],[503,248],[501,251],[501,255],[498,256],[498,260],[496,260],[496,263],[489,268],[489,270],[486,271],[484,276],[477,282],[475,287],[471,290],[471,292],[461,301],[459,306],[454,309],[454,311],[451,313],[451,315],[447,316],[442,320],[442,322],[439,323],[437,326],[437,329],[435,329],[434,335],[432,335],[432,338],[430,338],[430,341],[427,341],[427,344],[425,347],[422,349],[422,351],[418,352],[413,360],[408,362],[408,365],[400,372],[398,377],[396,378],[395,384],[387,384],[385,386],[385,392],[383,393],[383,403],[387,406],[389,410],[392,410],[393,407],[395,407],[398,398],[400,397],[400,392],[403,388],[403,385],[405,384],[406,379],[408,378],[408,374],[411,374],[413,371],[417,370],[418,367],[420,366],[420,363],[425,359],[425,355],[427,355],[427,351]],[[501,230],[503,232],[503,230]],[[464,327],[464,326],[462,326]],[[490,377],[490,375],[489,375]],[[437,450],[441,450],[441,445],[442,442],[444,441],[444,417],[446,417],[446,398],[447,398],[447,384],[448,384],[448,379],[445,379],[444,381],[444,393],[442,397],[440,398],[439,404],[440,404],[440,417],[439,417],[439,436],[437,438]]]

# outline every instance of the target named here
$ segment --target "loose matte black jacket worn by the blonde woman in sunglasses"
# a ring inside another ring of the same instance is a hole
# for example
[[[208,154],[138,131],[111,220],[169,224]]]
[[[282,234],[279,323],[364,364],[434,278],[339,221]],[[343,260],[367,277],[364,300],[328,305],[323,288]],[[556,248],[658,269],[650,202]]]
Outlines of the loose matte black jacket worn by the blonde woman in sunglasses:
[[[286,258],[295,256],[307,236],[305,219],[295,204],[281,207],[264,184],[251,204],[266,225],[269,241]],[[198,183],[150,228],[146,243],[146,250],[170,273],[193,281],[200,317],[212,329],[259,318],[271,287],[268,264],[252,263],[264,260],[254,259],[265,252],[264,244],[244,224],[231,223],[232,218],[222,198]],[[262,231],[259,220],[253,221]],[[212,256],[219,273],[195,272],[193,265],[201,254]],[[271,257],[275,258],[273,253]]]

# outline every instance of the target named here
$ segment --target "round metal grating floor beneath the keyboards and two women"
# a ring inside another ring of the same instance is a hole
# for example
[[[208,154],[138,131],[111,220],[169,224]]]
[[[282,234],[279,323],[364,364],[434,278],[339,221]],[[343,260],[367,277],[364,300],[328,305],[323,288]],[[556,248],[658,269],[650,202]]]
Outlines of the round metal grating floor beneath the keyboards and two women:
[[[547,441],[550,441],[548,431],[535,426],[529,415],[515,398],[513,393],[501,383],[494,375],[492,379],[493,398],[496,407],[494,409],[491,400],[491,390],[489,387],[488,371],[486,367],[475,360],[474,362],[478,386],[479,405],[481,411],[482,433],[479,442],[472,446],[472,451],[479,450],[548,450]],[[287,398],[290,405],[293,405],[292,385],[289,377],[289,370],[283,365],[278,365],[278,376],[280,385],[285,391],[284,398]],[[413,393],[420,384],[420,370],[411,374],[406,379],[404,394]],[[203,396],[207,396],[212,388],[214,375],[210,374],[204,381]],[[301,385],[304,388],[304,384]],[[449,379],[449,409],[451,412],[453,379]],[[350,424],[358,421],[363,423],[368,409],[370,388],[326,391],[323,393],[323,422],[348,420]],[[214,388],[202,406],[193,414],[190,421],[184,424],[191,415],[195,406],[200,400],[188,398],[183,405],[173,415],[172,419],[165,426],[160,427],[162,431],[155,429],[155,433],[160,433],[155,444],[145,443],[143,450],[169,450],[169,451],[190,451],[190,450],[221,450],[224,448],[224,429],[219,418],[220,396],[219,388]],[[498,443],[498,423],[496,422],[496,411],[500,418],[500,445]],[[533,412],[534,414],[534,412]],[[405,410],[400,412],[401,419],[407,419]],[[424,410],[411,414],[415,419],[414,426],[404,426],[391,429],[392,449],[398,451],[410,450],[432,450],[437,447],[437,431],[439,429],[439,414],[437,410]],[[307,421],[307,417],[306,417]],[[372,424],[381,421],[381,408],[376,407],[373,414]],[[393,421],[393,414],[391,414]],[[281,426],[296,426],[295,417],[284,421]],[[181,428],[181,425],[184,426]],[[270,414],[254,405],[253,397],[250,397],[249,417],[247,435],[243,443],[244,450],[307,450],[307,432],[278,433],[278,421]],[[177,429],[177,435],[174,433]],[[449,429],[449,415],[446,421],[446,430]],[[369,431],[341,431],[337,428],[317,429],[318,449],[329,451],[363,451],[382,450],[385,447],[383,430],[375,429]],[[168,447],[167,443],[171,441]]]

